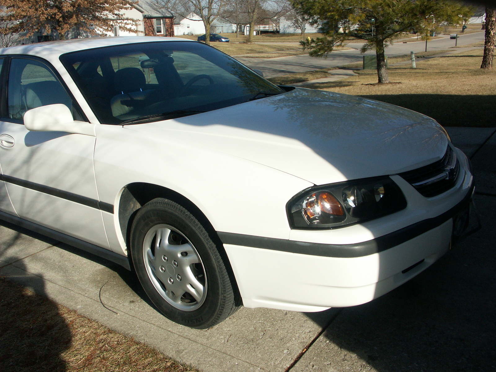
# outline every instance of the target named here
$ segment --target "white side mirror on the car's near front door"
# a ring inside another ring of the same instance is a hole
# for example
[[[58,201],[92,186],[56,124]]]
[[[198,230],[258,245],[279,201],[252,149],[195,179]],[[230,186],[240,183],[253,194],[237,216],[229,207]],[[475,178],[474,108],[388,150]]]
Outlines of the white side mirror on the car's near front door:
[[[74,121],[69,108],[61,103],[26,111],[24,126],[28,130],[45,130],[95,136],[95,124]]]

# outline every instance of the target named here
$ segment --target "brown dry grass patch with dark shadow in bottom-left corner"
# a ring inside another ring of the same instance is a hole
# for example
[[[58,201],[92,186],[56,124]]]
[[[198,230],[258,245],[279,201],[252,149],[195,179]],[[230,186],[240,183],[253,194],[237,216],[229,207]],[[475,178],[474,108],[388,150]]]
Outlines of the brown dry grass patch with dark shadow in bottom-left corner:
[[[0,277],[0,371],[197,370]]]

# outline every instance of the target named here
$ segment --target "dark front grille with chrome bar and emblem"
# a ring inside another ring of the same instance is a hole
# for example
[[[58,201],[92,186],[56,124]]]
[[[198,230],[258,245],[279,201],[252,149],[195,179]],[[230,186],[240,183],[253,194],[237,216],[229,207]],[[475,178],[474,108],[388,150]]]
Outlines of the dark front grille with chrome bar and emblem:
[[[448,146],[441,160],[413,171],[400,173],[399,176],[425,197],[432,197],[455,186],[459,173],[460,163],[453,149]]]

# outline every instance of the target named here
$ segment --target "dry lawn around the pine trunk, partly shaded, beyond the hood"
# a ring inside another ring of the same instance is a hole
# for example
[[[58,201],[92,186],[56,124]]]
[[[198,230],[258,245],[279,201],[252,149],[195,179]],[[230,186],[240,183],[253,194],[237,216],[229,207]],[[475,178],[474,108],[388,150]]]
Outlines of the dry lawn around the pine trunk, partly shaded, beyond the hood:
[[[357,70],[358,77],[316,83],[312,88],[392,103],[444,126],[496,126],[496,71],[480,68],[482,54],[479,49],[418,60],[416,69],[391,66],[389,79],[399,84],[376,85],[375,70]]]

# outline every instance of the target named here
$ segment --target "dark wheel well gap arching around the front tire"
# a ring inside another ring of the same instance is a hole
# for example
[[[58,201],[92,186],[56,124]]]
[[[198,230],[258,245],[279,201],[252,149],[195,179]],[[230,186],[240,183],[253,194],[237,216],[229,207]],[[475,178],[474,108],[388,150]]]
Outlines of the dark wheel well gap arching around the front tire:
[[[185,207],[208,231],[210,239],[212,239],[217,247],[223,247],[222,241],[217,235],[217,232],[213,228],[212,224],[193,202],[191,202],[188,198],[181,195],[180,193],[171,190],[170,188],[142,182],[137,182],[125,186],[119,200],[119,226],[121,228],[121,233],[124,237],[124,241],[127,247],[130,248],[131,226],[136,213],[138,212],[139,208],[157,197],[173,200]],[[234,283],[234,287],[237,292],[237,303],[238,305],[241,305],[242,303],[241,296],[239,295],[238,284],[236,283],[236,278],[234,277],[229,258],[227,257],[224,249],[219,249],[219,253],[224,259],[224,262],[226,262],[227,264],[230,279],[232,280],[232,283]],[[130,256],[131,255],[128,254],[129,258]]]

